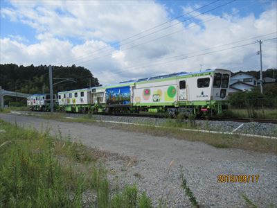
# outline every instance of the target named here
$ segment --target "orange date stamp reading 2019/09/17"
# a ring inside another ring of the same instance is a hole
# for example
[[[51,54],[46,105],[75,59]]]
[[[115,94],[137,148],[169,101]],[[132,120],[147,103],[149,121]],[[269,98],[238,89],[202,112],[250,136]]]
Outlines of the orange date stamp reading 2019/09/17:
[[[219,183],[258,183],[260,175],[217,175]]]

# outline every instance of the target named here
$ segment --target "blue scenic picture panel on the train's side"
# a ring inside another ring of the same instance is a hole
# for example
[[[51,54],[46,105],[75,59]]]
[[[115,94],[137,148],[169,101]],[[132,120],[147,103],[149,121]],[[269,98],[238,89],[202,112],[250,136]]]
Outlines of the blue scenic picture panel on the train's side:
[[[107,104],[127,105],[130,103],[130,89],[126,87],[115,87],[106,89]]]

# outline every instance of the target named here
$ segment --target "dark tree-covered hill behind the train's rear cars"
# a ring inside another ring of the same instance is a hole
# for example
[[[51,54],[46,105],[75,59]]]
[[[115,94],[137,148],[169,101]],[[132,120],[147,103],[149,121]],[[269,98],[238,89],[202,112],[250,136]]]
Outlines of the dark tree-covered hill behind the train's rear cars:
[[[64,82],[54,85],[53,92],[57,93],[69,89],[82,89],[86,87],[96,87],[99,85],[98,79],[93,77],[89,69],[84,67],[57,67],[53,66],[53,78],[74,78],[76,83]],[[60,80],[53,80],[57,83]],[[90,84],[90,86],[89,86]],[[48,93],[49,74],[48,67],[37,66],[17,66],[17,64],[0,64],[0,86],[3,89],[28,94]]]

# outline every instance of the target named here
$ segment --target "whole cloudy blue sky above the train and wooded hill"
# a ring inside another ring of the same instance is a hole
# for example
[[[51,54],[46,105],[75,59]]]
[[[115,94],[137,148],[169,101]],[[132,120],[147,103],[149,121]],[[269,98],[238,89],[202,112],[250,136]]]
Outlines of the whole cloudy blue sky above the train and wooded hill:
[[[1,63],[80,64],[91,69],[100,81],[102,78],[102,83],[117,82],[123,76],[134,79],[148,74],[196,71],[199,64],[206,68],[226,66],[232,71],[255,69],[256,57],[252,51],[256,45],[238,49],[240,55],[230,54],[234,56],[231,60],[226,58],[230,57],[226,51],[170,62],[162,67],[140,69],[136,66],[277,31],[276,1],[0,2]],[[231,3],[216,8],[228,2]],[[154,30],[141,33],[208,3],[211,5],[165,24],[169,27],[159,33],[148,35]],[[188,18],[189,21],[180,24]],[[206,22],[208,19],[211,21]],[[121,41],[137,33],[141,35],[129,39],[133,42]],[[141,39],[135,40],[137,37]],[[276,34],[267,37],[276,37]],[[265,67],[276,67],[276,42],[265,43],[266,46],[269,49],[265,50]]]

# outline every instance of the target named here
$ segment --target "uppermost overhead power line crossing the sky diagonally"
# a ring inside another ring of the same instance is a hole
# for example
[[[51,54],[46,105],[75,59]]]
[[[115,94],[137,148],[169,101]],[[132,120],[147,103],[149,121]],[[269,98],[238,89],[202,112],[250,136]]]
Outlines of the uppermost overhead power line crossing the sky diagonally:
[[[211,4],[213,4],[213,3],[217,2],[217,1],[219,1],[219,0],[212,1],[211,3],[208,3],[208,4],[204,5],[204,6],[201,6],[201,7],[197,8],[197,9],[195,9],[195,10],[192,10],[192,11],[190,11],[190,12],[186,12],[184,15],[180,15],[180,16],[178,16],[178,17],[172,18],[172,19],[170,19],[169,21],[163,22],[162,24],[159,24],[159,25],[154,26],[154,27],[152,27],[152,28],[148,28],[148,29],[146,29],[145,31],[142,31],[142,32],[140,32],[140,33],[136,33],[135,35],[132,35],[132,36],[130,36],[130,37],[127,37],[127,38],[125,38],[125,39],[123,39],[123,40],[119,40],[118,42],[116,42],[116,43],[114,43],[114,44],[110,44],[109,46],[114,46],[114,45],[116,45],[116,44],[119,44],[120,42],[124,42],[125,40],[129,40],[129,39],[131,39],[132,37],[136,37],[136,36],[141,35],[141,34],[143,34],[143,33],[145,33],[145,32],[151,31],[151,30],[154,29],[154,28],[158,28],[159,26],[163,26],[164,24],[168,24],[169,22],[171,22],[171,21],[173,21],[173,20],[175,20],[175,19],[179,19],[179,18],[181,18],[181,17],[184,17],[184,16],[186,16],[186,15],[189,15],[190,13],[195,12],[195,11],[197,11],[197,10],[200,10],[200,9],[202,9],[202,8],[205,8],[206,6],[210,6]],[[96,51],[93,51],[93,53],[96,53],[96,52],[98,52],[98,51],[102,51],[103,49],[107,49],[109,46],[105,46],[105,47],[102,48],[102,49],[98,49],[98,50],[96,50]],[[93,53],[91,53],[91,54],[93,54]],[[82,59],[81,57],[86,58],[87,55],[82,55],[82,56],[80,56],[79,58],[77,58],[77,60]],[[72,60],[68,60],[68,61],[65,61],[65,62],[69,62],[69,61],[72,62]],[[62,64],[63,64],[63,63],[64,63],[64,62],[62,62]]]

